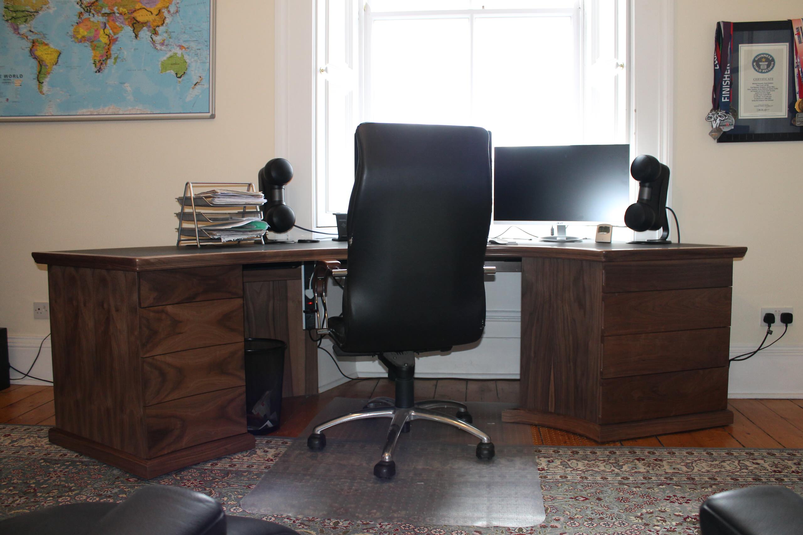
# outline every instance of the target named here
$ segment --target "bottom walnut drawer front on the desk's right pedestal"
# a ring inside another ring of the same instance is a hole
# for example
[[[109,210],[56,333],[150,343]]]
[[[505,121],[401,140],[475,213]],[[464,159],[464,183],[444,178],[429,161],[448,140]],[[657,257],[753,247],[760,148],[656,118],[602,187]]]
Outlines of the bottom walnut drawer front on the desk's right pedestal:
[[[602,379],[600,423],[691,415],[728,406],[728,366]]]

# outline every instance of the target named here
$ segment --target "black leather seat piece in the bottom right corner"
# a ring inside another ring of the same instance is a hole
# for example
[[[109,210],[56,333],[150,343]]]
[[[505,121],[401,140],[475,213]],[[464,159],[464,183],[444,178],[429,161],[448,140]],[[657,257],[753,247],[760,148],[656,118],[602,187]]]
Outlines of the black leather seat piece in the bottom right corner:
[[[703,535],[800,535],[803,497],[780,485],[719,492],[700,507]]]

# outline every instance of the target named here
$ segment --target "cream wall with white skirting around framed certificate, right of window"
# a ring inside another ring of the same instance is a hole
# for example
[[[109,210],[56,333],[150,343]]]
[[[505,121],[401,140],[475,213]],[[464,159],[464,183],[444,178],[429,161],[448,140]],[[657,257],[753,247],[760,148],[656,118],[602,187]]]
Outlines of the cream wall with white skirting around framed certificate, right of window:
[[[794,0],[677,0],[675,2],[675,210],[683,239],[748,247],[734,264],[732,353],[764,337],[762,306],[797,308],[785,338],[751,361],[735,363],[732,394],[803,397],[803,251],[797,246],[801,141],[715,143],[703,120],[711,108],[716,22],[784,20],[803,16]],[[776,329],[776,334],[783,328]]]

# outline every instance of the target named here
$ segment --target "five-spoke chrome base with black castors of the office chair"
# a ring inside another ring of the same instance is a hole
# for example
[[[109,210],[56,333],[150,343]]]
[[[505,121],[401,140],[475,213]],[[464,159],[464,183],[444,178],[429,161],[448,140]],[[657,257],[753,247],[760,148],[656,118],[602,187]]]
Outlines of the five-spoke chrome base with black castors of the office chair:
[[[356,410],[348,415],[338,416],[327,422],[320,423],[312,431],[312,435],[309,435],[307,446],[312,450],[322,450],[326,446],[324,431],[339,423],[369,418],[389,418],[388,438],[385,440],[385,447],[382,448],[380,461],[373,467],[373,474],[377,477],[389,479],[395,475],[396,464],[393,462],[393,451],[396,449],[399,435],[408,431],[410,422],[414,420],[430,420],[457,427],[479,439],[476,452],[479,459],[492,459],[495,455],[491,437],[471,425],[471,415],[468,413],[467,406],[463,405],[463,403],[428,399],[417,402],[410,408],[400,408],[395,406],[394,403],[392,398],[373,398],[363,410]],[[457,415],[444,415],[441,412],[432,410],[434,408],[457,409]]]

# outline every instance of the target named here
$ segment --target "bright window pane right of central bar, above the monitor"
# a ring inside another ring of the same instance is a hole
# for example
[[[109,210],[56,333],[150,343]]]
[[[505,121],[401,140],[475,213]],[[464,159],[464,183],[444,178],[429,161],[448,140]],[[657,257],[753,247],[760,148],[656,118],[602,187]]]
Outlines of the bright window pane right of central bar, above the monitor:
[[[499,146],[581,142],[574,48],[570,17],[476,18],[475,125]]]

